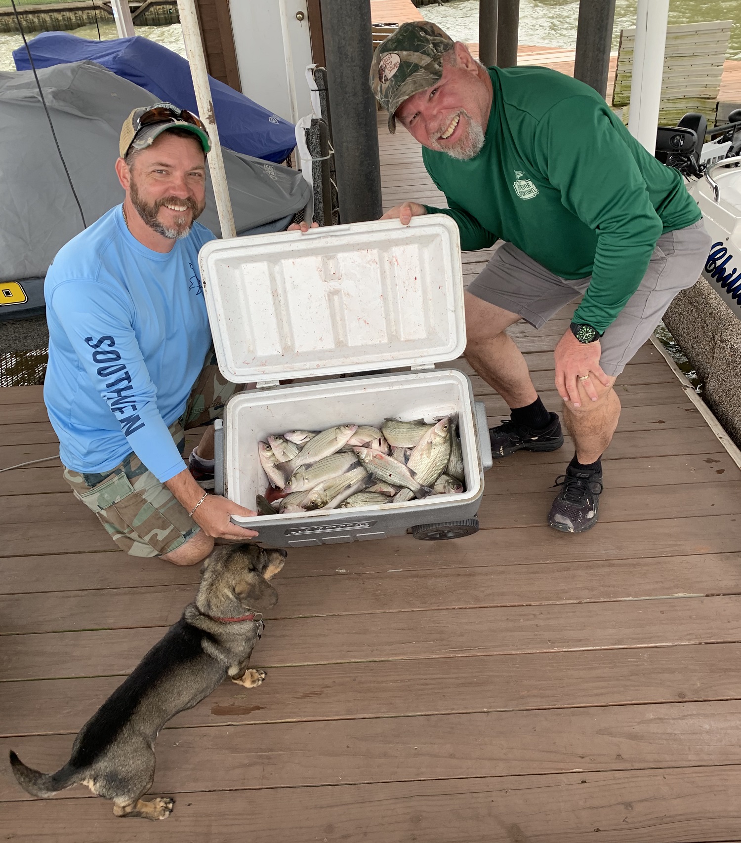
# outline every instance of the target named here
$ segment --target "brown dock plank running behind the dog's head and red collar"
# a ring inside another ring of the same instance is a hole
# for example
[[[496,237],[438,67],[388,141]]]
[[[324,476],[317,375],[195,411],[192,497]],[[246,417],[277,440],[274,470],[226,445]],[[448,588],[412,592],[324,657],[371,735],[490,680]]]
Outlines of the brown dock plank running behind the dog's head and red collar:
[[[453,562],[447,568],[427,571],[423,577],[419,570],[339,577],[334,572],[331,588],[327,588],[325,577],[293,577],[277,583],[280,602],[266,618],[733,595],[741,593],[739,558],[735,553],[701,559],[667,557],[652,560],[650,572],[645,560],[632,559],[519,566],[497,565],[491,560],[479,566]],[[0,633],[170,626],[195,597],[197,569],[191,576],[192,583],[167,588],[93,588],[0,596]]]

